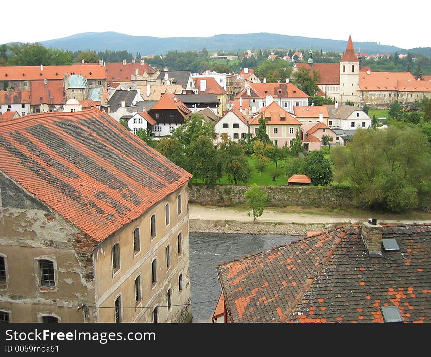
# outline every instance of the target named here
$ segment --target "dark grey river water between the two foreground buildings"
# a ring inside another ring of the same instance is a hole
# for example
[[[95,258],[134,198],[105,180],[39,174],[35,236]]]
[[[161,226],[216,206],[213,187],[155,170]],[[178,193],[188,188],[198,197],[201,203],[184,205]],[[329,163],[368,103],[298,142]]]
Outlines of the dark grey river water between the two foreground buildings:
[[[190,232],[189,237],[193,322],[211,322],[221,293],[218,263],[270,250],[300,236]]]

